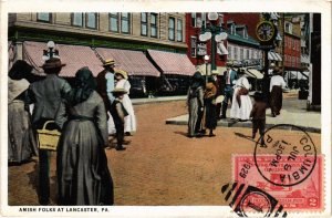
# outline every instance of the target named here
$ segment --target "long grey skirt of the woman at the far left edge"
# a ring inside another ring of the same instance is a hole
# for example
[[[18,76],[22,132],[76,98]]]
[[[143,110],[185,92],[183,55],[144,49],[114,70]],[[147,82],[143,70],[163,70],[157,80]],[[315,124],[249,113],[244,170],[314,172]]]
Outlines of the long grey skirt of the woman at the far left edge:
[[[8,160],[20,164],[38,155],[38,144],[29,112],[22,101],[8,105]]]

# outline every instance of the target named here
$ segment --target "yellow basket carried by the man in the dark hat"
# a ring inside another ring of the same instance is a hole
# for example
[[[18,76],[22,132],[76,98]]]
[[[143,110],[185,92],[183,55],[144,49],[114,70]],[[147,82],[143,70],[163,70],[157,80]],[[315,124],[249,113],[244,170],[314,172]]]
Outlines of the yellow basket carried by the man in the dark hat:
[[[61,133],[56,129],[53,129],[53,131],[46,129],[46,125],[50,123],[54,123],[54,121],[48,121],[44,123],[44,126],[42,129],[37,129],[39,148],[56,150],[58,142],[59,142],[59,137],[60,137]]]

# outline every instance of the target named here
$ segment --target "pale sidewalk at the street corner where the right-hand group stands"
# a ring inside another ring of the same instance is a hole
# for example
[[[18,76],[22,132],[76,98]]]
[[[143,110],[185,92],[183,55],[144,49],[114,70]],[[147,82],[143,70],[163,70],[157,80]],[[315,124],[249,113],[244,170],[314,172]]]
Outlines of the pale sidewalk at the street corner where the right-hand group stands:
[[[227,110],[227,117],[229,117],[229,111]],[[188,114],[180,115],[177,117],[172,117],[166,120],[166,124],[174,125],[187,125]],[[266,128],[272,127],[277,124],[292,124],[304,128],[307,132],[321,133],[321,113],[320,112],[309,112],[307,111],[307,100],[298,100],[292,95],[283,98],[283,107],[281,114],[277,117],[272,117],[270,110],[267,110],[267,126]],[[217,124],[224,127],[250,127],[251,122],[236,122],[234,120],[227,118],[221,120]],[[289,127],[280,127],[289,128]]]

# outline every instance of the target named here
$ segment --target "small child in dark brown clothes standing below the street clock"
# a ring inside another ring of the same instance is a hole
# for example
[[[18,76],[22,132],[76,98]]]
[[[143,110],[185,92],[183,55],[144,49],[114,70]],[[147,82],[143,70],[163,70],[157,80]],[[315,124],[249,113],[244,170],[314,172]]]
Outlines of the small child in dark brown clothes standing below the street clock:
[[[266,129],[266,111],[267,103],[263,101],[263,96],[261,93],[256,92],[253,94],[255,104],[252,106],[250,117],[252,117],[252,138],[256,137],[256,133],[259,129],[259,134],[261,136],[261,144],[264,144],[263,133]]]

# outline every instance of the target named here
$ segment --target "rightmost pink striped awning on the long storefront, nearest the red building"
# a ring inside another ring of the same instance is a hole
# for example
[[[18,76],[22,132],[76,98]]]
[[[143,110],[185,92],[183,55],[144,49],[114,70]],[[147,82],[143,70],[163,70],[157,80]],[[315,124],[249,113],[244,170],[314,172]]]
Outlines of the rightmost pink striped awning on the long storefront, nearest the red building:
[[[195,66],[187,54],[156,50],[147,50],[147,52],[164,74],[193,75],[195,73]]]

